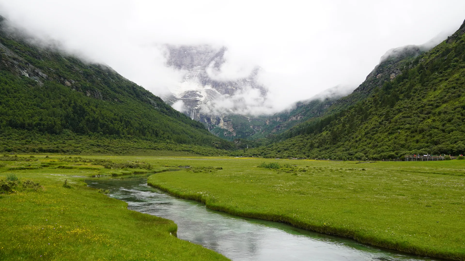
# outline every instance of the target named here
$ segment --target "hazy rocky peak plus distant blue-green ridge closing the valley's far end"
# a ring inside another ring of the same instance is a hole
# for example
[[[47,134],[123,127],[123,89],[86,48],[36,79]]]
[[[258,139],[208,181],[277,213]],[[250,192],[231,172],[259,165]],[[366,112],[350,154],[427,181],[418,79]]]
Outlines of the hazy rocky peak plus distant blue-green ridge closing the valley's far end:
[[[337,98],[348,94],[336,86],[320,94],[321,97],[295,104],[290,111],[260,117],[241,115],[238,112],[242,109],[238,94],[255,90],[266,97],[266,88],[257,83],[258,66],[245,78],[220,81],[212,76],[212,72],[220,71],[225,64],[225,47],[166,47],[166,65],[182,72],[183,78],[170,90],[171,93],[162,97],[163,100],[191,119],[206,124],[213,134],[228,140],[255,139],[281,133],[310,117],[319,116]],[[232,105],[227,107],[225,104]]]

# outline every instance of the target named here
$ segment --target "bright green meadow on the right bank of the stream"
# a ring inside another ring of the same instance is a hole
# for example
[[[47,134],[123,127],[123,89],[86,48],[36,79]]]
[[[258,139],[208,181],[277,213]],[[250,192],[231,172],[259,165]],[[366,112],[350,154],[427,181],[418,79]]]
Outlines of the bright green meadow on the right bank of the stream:
[[[163,158],[204,168],[154,174],[148,183],[235,215],[465,260],[465,161],[267,160],[280,168],[257,167],[263,161]]]

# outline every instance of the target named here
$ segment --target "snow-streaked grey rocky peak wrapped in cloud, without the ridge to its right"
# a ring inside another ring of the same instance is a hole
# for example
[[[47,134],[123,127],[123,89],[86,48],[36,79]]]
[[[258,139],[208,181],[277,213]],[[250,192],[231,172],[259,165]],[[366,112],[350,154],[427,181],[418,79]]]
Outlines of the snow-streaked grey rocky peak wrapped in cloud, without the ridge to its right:
[[[226,62],[225,47],[214,48],[202,46],[167,46],[166,65],[184,73],[182,81],[173,88],[171,93],[162,97],[170,105],[177,108],[194,120],[207,125],[211,131],[214,128],[224,129],[224,136],[233,139],[238,133],[234,129],[231,115],[237,113],[234,103],[226,106],[224,100],[233,98],[245,90],[254,89],[261,96],[266,96],[266,88],[257,83],[257,66],[248,77],[229,81],[214,79],[213,71],[220,71]],[[236,124],[237,125],[237,124]],[[239,135],[242,136],[242,135]]]

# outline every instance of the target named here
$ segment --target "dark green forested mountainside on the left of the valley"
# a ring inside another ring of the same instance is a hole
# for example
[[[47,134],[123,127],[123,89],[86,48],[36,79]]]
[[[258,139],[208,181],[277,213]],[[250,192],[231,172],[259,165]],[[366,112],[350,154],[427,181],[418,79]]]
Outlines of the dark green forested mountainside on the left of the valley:
[[[113,69],[28,42],[0,31],[0,151],[218,155],[233,148]]]

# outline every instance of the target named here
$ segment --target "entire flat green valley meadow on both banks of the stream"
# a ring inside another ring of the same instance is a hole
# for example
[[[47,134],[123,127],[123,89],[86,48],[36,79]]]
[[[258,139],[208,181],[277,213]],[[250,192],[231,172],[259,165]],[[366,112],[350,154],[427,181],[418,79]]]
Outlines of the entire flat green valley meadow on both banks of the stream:
[[[30,179],[42,187],[33,191],[18,186],[17,192],[1,195],[0,259],[227,260],[170,235],[176,231],[173,222],[127,210],[125,202],[80,181],[115,172],[162,171],[150,176],[149,183],[205,202],[211,209],[413,254],[465,260],[465,161],[43,155],[5,159],[0,161],[0,179],[13,173],[23,183]],[[150,170],[143,169],[148,164]],[[163,171],[186,165],[191,168]],[[73,189],[62,186],[65,179]]]

